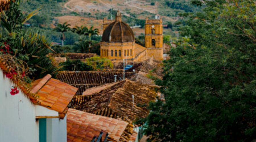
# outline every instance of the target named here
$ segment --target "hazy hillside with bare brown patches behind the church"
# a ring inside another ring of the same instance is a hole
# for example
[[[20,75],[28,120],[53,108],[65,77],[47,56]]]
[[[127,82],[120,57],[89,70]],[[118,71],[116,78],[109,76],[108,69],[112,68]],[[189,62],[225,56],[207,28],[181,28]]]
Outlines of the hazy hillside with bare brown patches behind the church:
[[[25,13],[41,7],[41,11],[28,21],[33,27],[50,30],[57,23],[67,22],[71,27],[94,26],[99,29],[100,35],[103,33],[102,19],[114,18],[115,12],[119,9],[124,22],[130,26],[141,25],[141,28],[133,29],[135,36],[144,34],[145,18],[154,18],[155,14],[162,16],[164,24],[173,25],[165,28],[164,34],[177,36],[177,27],[174,23],[181,18],[178,13],[198,10],[189,0],[30,0],[23,1],[21,7]],[[60,42],[57,34],[54,35],[51,39]]]

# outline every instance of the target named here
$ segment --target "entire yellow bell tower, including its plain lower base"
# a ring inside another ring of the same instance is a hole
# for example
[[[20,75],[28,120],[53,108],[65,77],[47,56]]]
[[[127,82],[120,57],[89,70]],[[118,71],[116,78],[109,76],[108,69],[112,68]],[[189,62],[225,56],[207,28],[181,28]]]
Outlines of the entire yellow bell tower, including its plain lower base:
[[[160,15],[156,15],[155,19],[146,18],[145,24],[145,47],[149,57],[156,60],[163,59],[163,23]]]

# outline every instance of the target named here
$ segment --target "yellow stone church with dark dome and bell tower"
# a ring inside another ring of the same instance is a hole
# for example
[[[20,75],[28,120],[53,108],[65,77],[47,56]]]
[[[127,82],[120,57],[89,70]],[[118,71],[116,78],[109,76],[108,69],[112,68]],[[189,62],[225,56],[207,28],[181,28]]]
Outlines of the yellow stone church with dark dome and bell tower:
[[[103,20],[103,35],[100,43],[100,57],[112,61],[144,61],[153,57],[163,60],[163,25],[159,15],[155,19],[146,18],[145,47],[135,43],[133,30],[122,21],[117,11],[115,20]]]

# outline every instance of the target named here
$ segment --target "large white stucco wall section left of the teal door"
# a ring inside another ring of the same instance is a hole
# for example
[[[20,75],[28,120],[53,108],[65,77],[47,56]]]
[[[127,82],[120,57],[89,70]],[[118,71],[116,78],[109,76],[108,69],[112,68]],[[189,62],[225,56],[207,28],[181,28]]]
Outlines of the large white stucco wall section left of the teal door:
[[[35,105],[20,91],[10,94],[13,83],[0,69],[0,141],[38,142]]]

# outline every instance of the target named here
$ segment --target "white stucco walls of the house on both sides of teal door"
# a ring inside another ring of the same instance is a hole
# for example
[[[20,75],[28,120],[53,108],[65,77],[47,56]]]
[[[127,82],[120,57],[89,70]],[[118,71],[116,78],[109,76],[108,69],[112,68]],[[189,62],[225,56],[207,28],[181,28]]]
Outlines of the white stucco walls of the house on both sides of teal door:
[[[34,105],[22,93],[11,95],[14,84],[0,69],[0,142],[39,142],[36,116],[59,116],[46,107]],[[67,142],[67,119],[46,119],[47,142]]]

